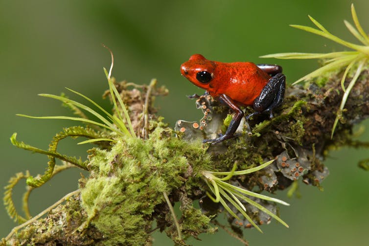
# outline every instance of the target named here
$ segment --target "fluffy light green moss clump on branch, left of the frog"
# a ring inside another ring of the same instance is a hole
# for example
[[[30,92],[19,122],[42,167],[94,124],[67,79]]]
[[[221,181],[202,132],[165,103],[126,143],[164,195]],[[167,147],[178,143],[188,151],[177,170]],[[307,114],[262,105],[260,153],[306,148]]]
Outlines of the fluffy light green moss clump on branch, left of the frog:
[[[148,232],[155,207],[165,202],[162,193],[176,192],[187,179],[202,182],[200,172],[193,169],[210,165],[205,151],[200,143],[181,141],[172,130],[162,128],[157,128],[146,141],[118,139],[109,152],[94,149],[89,157],[93,171],[81,191],[87,221],[109,235],[104,241],[107,245],[145,245],[151,240]],[[188,170],[194,176],[188,175]],[[208,229],[208,217],[193,208],[192,203],[186,203],[183,212],[185,218],[193,218],[191,224],[203,227],[196,231],[184,220],[185,235],[198,235]]]

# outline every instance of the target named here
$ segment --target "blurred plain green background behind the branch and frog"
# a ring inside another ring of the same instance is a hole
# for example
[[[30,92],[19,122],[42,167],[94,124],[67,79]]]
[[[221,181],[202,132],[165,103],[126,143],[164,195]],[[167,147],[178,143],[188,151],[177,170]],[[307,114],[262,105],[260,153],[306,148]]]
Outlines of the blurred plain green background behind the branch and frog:
[[[260,59],[277,52],[329,52],[342,50],[321,37],[289,27],[312,25],[307,15],[336,34],[354,41],[343,23],[351,21],[351,0],[63,0],[0,1],[0,83],[2,120],[0,132],[0,186],[17,172],[43,173],[47,158],[13,147],[9,137],[46,149],[52,136],[75,122],[35,120],[15,116],[69,115],[69,111],[38,93],[59,94],[69,87],[90,96],[109,108],[101,99],[107,89],[102,67],[110,66],[109,46],[115,55],[114,76],[130,82],[148,83],[155,77],[169,90],[157,105],[170,126],[177,119],[197,120],[201,112],[185,95],[202,93],[186,81],[180,65],[190,55],[201,53],[211,60],[278,63],[291,83],[312,69],[316,61]],[[369,32],[369,1],[354,1],[359,20]],[[362,124],[368,128],[369,121]],[[360,137],[368,140],[366,131]],[[65,140],[60,152],[86,157],[88,146]],[[273,222],[262,226],[264,234],[245,230],[251,245],[369,245],[369,173],[357,167],[368,158],[368,150],[341,149],[331,152],[325,164],[330,176],[324,191],[300,185],[300,199],[276,196],[291,203],[281,207],[281,217],[290,228]],[[30,198],[36,215],[77,188],[81,171],[68,170],[57,175]],[[86,175],[86,173],[84,173]],[[14,192],[20,209],[24,183]],[[0,238],[13,223],[0,205]],[[156,232],[155,246],[172,245],[165,234]],[[224,231],[201,235],[193,245],[241,245]]]

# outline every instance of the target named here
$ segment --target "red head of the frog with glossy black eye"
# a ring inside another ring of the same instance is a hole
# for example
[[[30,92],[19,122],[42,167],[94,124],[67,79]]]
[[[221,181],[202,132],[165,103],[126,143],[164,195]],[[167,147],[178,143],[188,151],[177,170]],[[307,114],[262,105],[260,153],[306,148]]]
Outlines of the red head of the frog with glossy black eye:
[[[216,64],[200,54],[192,55],[181,65],[181,73],[195,86],[209,90],[210,82],[214,78]]]

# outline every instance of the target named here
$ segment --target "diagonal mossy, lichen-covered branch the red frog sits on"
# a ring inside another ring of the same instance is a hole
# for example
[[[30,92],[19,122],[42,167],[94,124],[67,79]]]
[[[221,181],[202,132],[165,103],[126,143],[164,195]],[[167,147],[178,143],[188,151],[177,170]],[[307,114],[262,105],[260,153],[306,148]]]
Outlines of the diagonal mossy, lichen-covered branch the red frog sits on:
[[[333,140],[330,139],[330,129],[335,119],[333,109],[337,108],[342,99],[340,74],[331,76],[323,87],[318,87],[315,83],[311,83],[305,89],[300,86],[289,87],[284,105],[279,112],[276,112],[278,116],[275,119],[262,121],[253,128],[254,134],[244,134],[228,140],[225,145],[208,146],[199,142],[188,143],[184,139],[175,137],[172,130],[160,127],[149,134],[146,140],[134,137],[117,138],[111,150],[94,149],[92,151],[89,166],[94,171],[90,178],[80,180],[81,197],[74,199],[72,203],[61,205],[62,213],[50,214],[42,220],[43,226],[49,228],[42,235],[42,239],[40,235],[27,234],[40,226],[39,223],[33,223],[28,225],[21,234],[18,232],[17,236],[11,237],[8,242],[18,242],[19,238],[23,238],[23,240],[36,240],[35,242],[43,243],[68,241],[110,244],[114,241],[129,242],[133,245],[143,245],[145,242],[150,244],[151,223],[156,220],[158,228],[166,230],[176,243],[185,244],[185,239],[189,236],[197,238],[199,233],[216,231],[216,228],[209,226],[211,218],[206,214],[207,211],[210,214],[213,213],[207,206],[214,206],[211,205],[214,203],[202,199],[203,212],[193,208],[192,205],[194,200],[200,199],[207,191],[202,175],[204,170],[219,170],[220,172],[212,171],[209,174],[224,177],[219,177],[221,182],[215,185],[211,183],[214,179],[209,179],[208,191],[214,192],[218,197],[214,200],[219,199],[222,206],[235,218],[229,219],[232,225],[259,228],[261,222],[268,223],[268,220],[273,217],[277,219],[275,206],[262,203],[258,197],[251,199],[248,193],[228,192],[227,189],[231,187],[233,190],[238,190],[244,186],[243,189],[251,190],[256,186],[260,191],[274,191],[282,189],[282,186],[278,186],[281,182],[284,188],[292,187],[289,192],[292,195],[297,190],[297,181],[293,182],[293,180],[299,177],[302,177],[305,183],[320,187],[322,177],[327,175],[321,159],[325,157],[328,150],[343,145],[357,148],[369,147],[367,142],[352,140],[351,134],[354,124],[369,117],[369,91],[366,89],[369,84],[368,78],[368,71],[365,70],[351,89],[351,95],[360,95],[360,97],[348,97],[346,103],[348,110],[342,115],[345,121],[337,125]],[[141,117],[141,114],[137,115]],[[84,133],[85,136],[98,137],[99,133],[89,131]],[[66,136],[74,137],[78,135],[77,132],[79,129],[75,128],[58,134],[53,140],[55,142],[50,144],[53,152],[18,143],[15,137],[14,142],[27,150],[46,155],[52,154],[53,157],[59,158],[63,155],[55,154],[58,141]],[[217,154],[219,151],[221,154]],[[273,153],[280,154],[275,156]],[[273,163],[264,161],[265,164],[258,166],[263,158],[275,160]],[[235,168],[232,169],[232,166],[235,167],[234,163],[238,163],[237,166],[240,169],[250,171],[241,172]],[[368,160],[363,160],[360,165],[365,168],[367,163]],[[264,168],[258,170],[261,167]],[[289,176],[293,167],[296,167],[297,171],[292,173],[293,176]],[[225,172],[230,169],[231,172]],[[252,171],[257,172],[250,173]],[[275,172],[279,173],[277,177]],[[28,178],[27,175],[17,177],[12,181]],[[229,183],[224,183],[225,181]],[[168,201],[165,202],[163,199],[163,192],[168,194],[170,203],[181,202],[182,217],[177,223],[172,219],[172,213],[166,205]],[[8,191],[7,196],[9,194]],[[264,198],[261,194],[257,196]],[[255,215],[240,212],[245,209],[249,211],[250,206],[257,207],[264,214],[259,212],[260,217],[255,218]],[[239,209],[234,210],[233,207]],[[69,209],[73,209],[73,212]],[[76,211],[78,216],[63,217],[66,214],[75,214]],[[137,214],[132,211],[140,212]],[[14,212],[15,210],[10,210],[17,220],[25,220]],[[68,223],[64,229],[57,229],[62,230],[63,233],[54,233],[56,228],[51,222],[59,220],[60,216]],[[132,223],[124,224],[122,221]],[[281,223],[284,224],[283,221]],[[112,231],[111,228],[122,228],[124,231],[120,229]],[[53,231],[52,234],[51,231]],[[237,237],[242,240],[239,234]]]

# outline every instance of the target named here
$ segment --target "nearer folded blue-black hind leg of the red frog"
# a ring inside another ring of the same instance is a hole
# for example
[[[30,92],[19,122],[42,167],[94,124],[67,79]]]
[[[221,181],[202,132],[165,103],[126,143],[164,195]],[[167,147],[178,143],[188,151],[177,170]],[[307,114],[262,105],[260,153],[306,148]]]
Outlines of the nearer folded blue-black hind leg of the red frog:
[[[283,73],[277,73],[270,78],[268,84],[265,85],[260,95],[254,100],[253,109],[255,112],[247,115],[246,120],[255,114],[264,112],[269,112],[269,117],[273,118],[273,109],[282,104],[285,89],[286,76]]]

